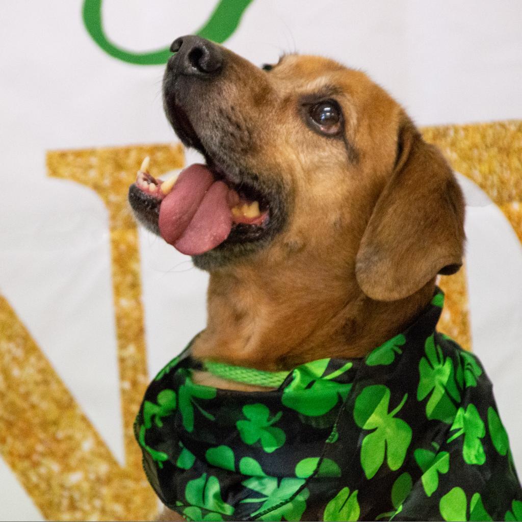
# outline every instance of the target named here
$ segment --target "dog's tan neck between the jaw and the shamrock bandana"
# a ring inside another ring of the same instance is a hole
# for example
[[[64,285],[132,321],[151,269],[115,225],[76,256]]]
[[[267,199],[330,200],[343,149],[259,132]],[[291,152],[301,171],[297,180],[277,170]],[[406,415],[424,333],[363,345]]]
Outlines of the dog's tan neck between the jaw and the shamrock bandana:
[[[194,356],[269,371],[326,357],[363,357],[400,333],[435,286],[432,280],[406,299],[378,302],[353,276],[325,275],[317,266],[294,270],[211,272],[207,327],[194,342]]]

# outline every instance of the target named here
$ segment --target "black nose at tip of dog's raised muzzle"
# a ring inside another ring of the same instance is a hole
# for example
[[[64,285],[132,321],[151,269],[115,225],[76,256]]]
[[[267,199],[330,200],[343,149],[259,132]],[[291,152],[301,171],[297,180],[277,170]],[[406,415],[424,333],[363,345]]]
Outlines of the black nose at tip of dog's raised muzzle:
[[[214,76],[223,68],[223,51],[219,45],[188,35],[176,38],[170,50],[176,53],[169,60],[169,66],[176,72],[189,76]]]

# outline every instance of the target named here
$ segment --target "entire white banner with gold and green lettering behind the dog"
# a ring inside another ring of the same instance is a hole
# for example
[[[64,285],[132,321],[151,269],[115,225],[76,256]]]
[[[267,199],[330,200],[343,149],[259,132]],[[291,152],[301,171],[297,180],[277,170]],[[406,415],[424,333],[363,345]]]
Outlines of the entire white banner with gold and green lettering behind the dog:
[[[333,57],[390,91],[459,172],[466,264],[442,329],[481,358],[522,471],[522,4],[518,0],[4,0],[0,519],[151,519],[132,422],[205,325],[207,276],[138,229],[141,160],[197,160],[162,113],[168,47],[257,64]],[[152,51],[151,51],[152,50]]]

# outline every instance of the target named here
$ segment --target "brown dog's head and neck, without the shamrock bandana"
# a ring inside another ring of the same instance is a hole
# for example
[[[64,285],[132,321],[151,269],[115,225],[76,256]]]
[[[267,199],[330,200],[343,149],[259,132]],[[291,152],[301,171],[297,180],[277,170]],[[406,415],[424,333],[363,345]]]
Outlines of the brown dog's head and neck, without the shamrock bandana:
[[[169,228],[174,211],[146,173],[129,200],[145,226],[210,272],[193,356],[290,370],[363,357],[407,327],[437,274],[462,262],[464,201],[441,153],[381,87],[337,62],[286,55],[258,68],[192,36],[172,50],[165,112],[205,156],[207,167],[189,169],[209,177],[207,207],[223,223],[203,212],[206,230]],[[180,188],[196,198],[190,191]]]

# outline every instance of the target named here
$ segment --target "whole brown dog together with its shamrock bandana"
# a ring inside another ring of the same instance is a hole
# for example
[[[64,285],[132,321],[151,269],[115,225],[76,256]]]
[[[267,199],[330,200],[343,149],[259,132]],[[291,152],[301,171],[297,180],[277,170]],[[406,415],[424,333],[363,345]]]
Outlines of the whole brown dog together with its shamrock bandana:
[[[465,243],[441,152],[384,89],[333,60],[288,54],[259,68],[195,36],[171,51],[165,114],[206,164],[175,183],[145,164],[129,189],[138,221],[210,274],[207,326],[151,384],[135,426],[170,516],[503,519],[522,491],[503,435],[491,435],[494,456],[484,450],[485,422],[505,433],[492,397],[486,409],[470,399],[490,397],[489,381],[434,333],[437,275],[460,268]],[[404,416],[392,422],[388,403]],[[242,420],[223,420],[227,404]],[[478,456],[458,431],[473,422]],[[159,435],[167,425],[172,440]],[[448,469],[460,482],[443,484]],[[505,494],[491,495],[492,480]]]

